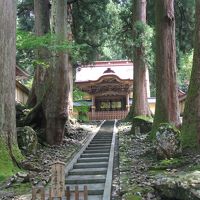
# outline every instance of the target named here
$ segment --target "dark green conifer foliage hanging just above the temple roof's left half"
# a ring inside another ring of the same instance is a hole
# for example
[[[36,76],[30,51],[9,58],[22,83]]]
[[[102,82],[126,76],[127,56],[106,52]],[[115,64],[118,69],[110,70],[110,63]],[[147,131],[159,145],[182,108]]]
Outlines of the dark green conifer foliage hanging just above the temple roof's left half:
[[[108,3],[109,0],[87,0],[73,4],[73,36],[77,44],[84,44],[79,57],[81,62],[99,59],[101,46],[111,26],[106,9]]]

